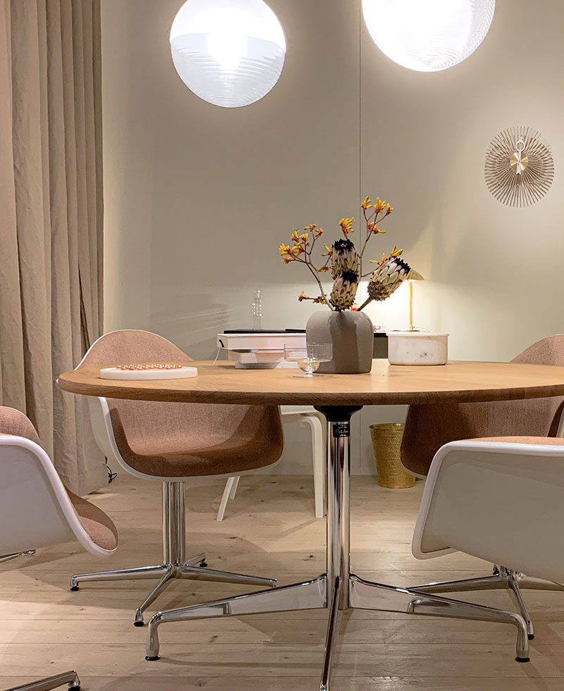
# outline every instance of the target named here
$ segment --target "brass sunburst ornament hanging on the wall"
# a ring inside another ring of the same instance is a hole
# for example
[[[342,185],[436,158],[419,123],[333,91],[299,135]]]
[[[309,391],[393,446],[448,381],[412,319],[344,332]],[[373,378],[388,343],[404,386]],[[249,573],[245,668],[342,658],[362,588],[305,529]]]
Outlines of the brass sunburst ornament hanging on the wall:
[[[537,130],[510,127],[491,141],[484,176],[497,200],[512,207],[528,207],[551,188],[554,178],[551,148],[541,141]]]

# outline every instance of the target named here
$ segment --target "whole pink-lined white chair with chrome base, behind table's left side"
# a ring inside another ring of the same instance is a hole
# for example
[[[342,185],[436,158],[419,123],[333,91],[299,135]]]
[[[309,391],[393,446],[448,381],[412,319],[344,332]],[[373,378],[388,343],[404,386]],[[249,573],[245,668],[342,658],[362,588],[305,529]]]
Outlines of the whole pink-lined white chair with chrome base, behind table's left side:
[[[147,331],[113,331],[99,338],[78,366],[125,365],[135,362],[190,362],[166,338]],[[212,570],[205,554],[185,555],[185,482],[197,477],[245,475],[276,463],[283,451],[277,407],[204,405],[142,400],[89,398],[92,429],[106,457],[131,475],[163,487],[163,562],[103,573],[81,573],[78,584],[96,580],[158,579],[135,612],[143,612],[176,578],[191,578],[259,587],[276,580]]]

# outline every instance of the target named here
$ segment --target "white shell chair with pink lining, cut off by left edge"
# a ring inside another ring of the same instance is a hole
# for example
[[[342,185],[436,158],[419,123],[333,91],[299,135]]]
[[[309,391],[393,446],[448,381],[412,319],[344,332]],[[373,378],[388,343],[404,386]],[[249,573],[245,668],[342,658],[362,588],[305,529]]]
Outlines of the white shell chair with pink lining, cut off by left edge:
[[[0,407],[0,549],[8,561],[39,547],[77,540],[90,554],[114,554],[118,534],[97,506],[65,489],[37,432],[22,412]],[[75,671],[30,682],[9,691],[80,689]]]

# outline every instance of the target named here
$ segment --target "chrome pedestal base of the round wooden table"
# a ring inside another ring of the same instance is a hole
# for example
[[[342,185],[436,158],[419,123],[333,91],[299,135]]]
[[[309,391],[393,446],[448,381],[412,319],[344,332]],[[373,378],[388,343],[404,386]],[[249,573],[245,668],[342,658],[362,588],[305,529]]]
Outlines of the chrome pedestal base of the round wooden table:
[[[341,613],[348,609],[371,609],[513,624],[517,628],[517,660],[527,661],[527,627],[520,615],[414,589],[372,583],[350,572],[350,417],[360,407],[324,407],[317,410],[324,413],[329,426],[326,573],[294,585],[158,612],[149,623],[147,660],[159,659],[158,631],[164,623],[266,612],[328,609],[329,623],[319,691],[330,691],[333,653]]]

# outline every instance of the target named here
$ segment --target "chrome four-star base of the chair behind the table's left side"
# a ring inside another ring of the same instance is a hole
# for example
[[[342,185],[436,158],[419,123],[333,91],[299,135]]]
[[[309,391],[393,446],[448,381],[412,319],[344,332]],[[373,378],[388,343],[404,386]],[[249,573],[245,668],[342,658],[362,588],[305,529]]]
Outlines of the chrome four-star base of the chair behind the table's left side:
[[[184,483],[163,483],[163,563],[157,566],[142,566],[99,573],[80,573],[71,578],[71,590],[79,589],[78,584],[89,581],[135,580],[141,578],[158,579],[157,585],[149,592],[135,612],[135,626],[143,625],[143,612],[171,583],[178,578],[205,580],[222,583],[239,583],[274,588],[278,582],[274,578],[262,578],[240,573],[228,573],[207,568],[206,555],[196,554],[185,558],[185,503]]]

